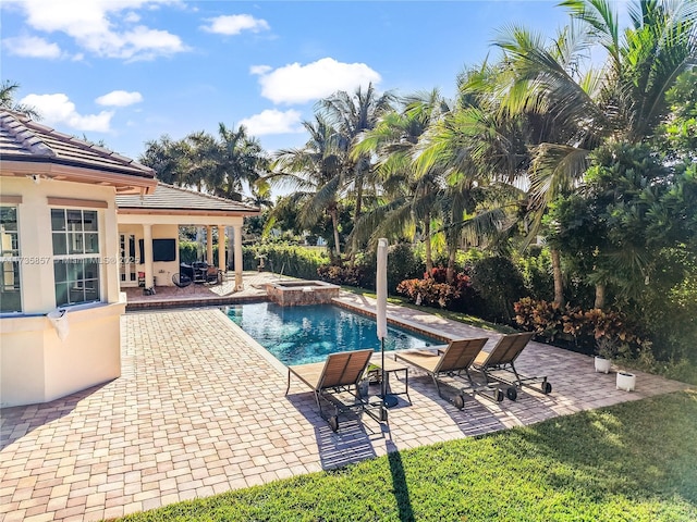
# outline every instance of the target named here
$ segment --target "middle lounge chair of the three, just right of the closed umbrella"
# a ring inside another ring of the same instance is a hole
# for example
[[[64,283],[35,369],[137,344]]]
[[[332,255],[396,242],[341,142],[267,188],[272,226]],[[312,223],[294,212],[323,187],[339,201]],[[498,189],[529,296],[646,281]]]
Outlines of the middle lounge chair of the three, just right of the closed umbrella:
[[[486,337],[451,340],[443,350],[438,350],[438,353],[428,350],[396,351],[394,357],[428,373],[433,380],[433,384],[436,384],[438,395],[445,400],[452,400],[453,405],[462,410],[465,406],[464,393],[474,394],[482,388],[488,388],[493,391],[492,398],[494,400],[503,400],[503,393],[496,385],[475,383],[469,374],[469,369],[475,358],[481,351],[484,345],[487,344],[487,340]],[[441,385],[448,385],[443,377],[449,377],[457,384],[464,383],[464,386],[460,387],[458,393],[452,399],[442,394]]]

